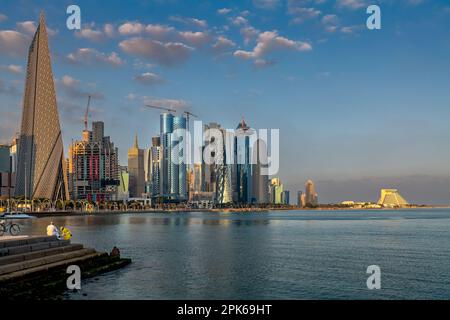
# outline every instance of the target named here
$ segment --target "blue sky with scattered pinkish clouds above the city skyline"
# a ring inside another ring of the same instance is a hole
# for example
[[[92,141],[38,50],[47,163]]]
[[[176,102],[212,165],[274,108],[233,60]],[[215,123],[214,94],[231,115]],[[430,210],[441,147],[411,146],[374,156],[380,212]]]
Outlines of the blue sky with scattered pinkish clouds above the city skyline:
[[[66,28],[81,8],[82,30]],[[378,4],[382,29],[365,27]],[[27,10],[24,10],[27,8]],[[26,49],[46,13],[64,142],[88,93],[120,149],[159,131],[144,102],[279,128],[285,188],[321,202],[450,203],[450,4],[431,0],[9,1],[0,4],[0,141],[20,125]]]

